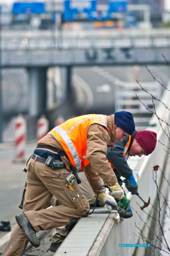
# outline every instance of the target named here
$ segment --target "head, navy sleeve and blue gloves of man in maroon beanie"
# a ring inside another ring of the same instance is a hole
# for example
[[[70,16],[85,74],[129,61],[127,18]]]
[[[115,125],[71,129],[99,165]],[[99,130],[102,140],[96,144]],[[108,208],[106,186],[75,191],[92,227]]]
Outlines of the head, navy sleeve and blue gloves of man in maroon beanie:
[[[125,177],[125,186],[132,195],[138,192],[138,185],[133,176],[133,171],[127,164],[128,157],[149,155],[156,147],[156,133],[153,131],[134,131],[132,136],[125,137],[120,142],[116,141],[113,148],[108,148],[107,158],[111,163],[114,173],[116,174],[118,183],[122,186],[122,179]],[[129,207],[124,218],[132,217],[132,211]]]

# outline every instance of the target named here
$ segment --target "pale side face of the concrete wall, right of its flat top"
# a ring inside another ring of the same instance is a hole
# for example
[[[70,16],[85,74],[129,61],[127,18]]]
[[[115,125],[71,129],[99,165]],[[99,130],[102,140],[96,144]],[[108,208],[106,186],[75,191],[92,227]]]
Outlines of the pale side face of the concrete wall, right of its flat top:
[[[168,84],[168,88],[170,89],[170,83]],[[164,104],[170,108],[170,92],[167,90],[164,91],[164,94],[162,96],[161,101],[164,102]],[[159,103],[158,108],[156,109],[156,113],[158,116],[165,120],[167,123],[170,124],[170,111],[164,107],[163,104]],[[156,124],[155,127],[149,128],[150,130],[157,132],[157,140],[163,143],[164,145],[169,146],[169,140],[164,133],[164,131],[167,133],[168,128],[167,125],[163,122],[161,122],[161,125],[159,124],[159,121],[154,115],[152,119],[150,120],[150,124]],[[165,151],[165,146],[162,145],[160,142],[157,143],[155,151],[145,157],[141,157],[139,160],[137,171],[139,172],[139,194],[144,198],[145,201],[148,200],[148,197],[150,196],[151,204],[153,204],[155,207],[158,203],[157,197],[156,197],[156,184],[153,181],[153,166],[159,165],[161,171],[164,172],[165,177],[169,177],[169,169],[166,168],[166,163],[168,157],[168,153]],[[167,149],[166,149],[167,150]],[[168,191],[168,184],[164,180],[164,178],[161,175],[161,172],[157,172],[157,181],[158,186],[161,189],[162,194],[166,197],[167,191]],[[127,255],[127,256],[142,256],[145,255],[145,249],[142,247],[119,247],[119,244],[143,244],[142,239],[139,239],[139,230],[137,227],[140,228],[144,232],[145,235],[147,235],[148,230],[146,227],[146,224],[154,230],[153,226],[153,220],[152,218],[149,218],[147,214],[145,214],[140,208],[139,205],[142,206],[142,201],[139,200],[139,198],[136,195],[130,195],[130,193],[127,194],[127,197],[131,199],[130,205],[133,209],[135,209],[138,214],[133,210],[133,217],[130,219],[125,219],[121,224],[116,225],[116,222],[114,222],[113,227],[111,228],[111,232],[108,234],[107,239],[105,240],[105,243],[102,247],[102,250],[99,252],[99,248],[96,248],[96,252],[91,254],[89,252],[89,256],[116,256],[116,255]],[[136,204],[136,202],[139,204]],[[161,204],[163,203],[163,198],[160,197]],[[147,207],[146,212],[153,213],[153,207],[150,205]],[[142,218],[142,220],[141,220]],[[162,214],[163,218],[163,214]],[[135,226],[136,223],[136,226]],[[100,236],[100,234],[99,234]],[[148,235],[149,236],[149,235]],[[97,240],[96,240],[97,241]],[[94,243],[95,247],[96,242]],[[92,250],[94,248],[92,247]]]

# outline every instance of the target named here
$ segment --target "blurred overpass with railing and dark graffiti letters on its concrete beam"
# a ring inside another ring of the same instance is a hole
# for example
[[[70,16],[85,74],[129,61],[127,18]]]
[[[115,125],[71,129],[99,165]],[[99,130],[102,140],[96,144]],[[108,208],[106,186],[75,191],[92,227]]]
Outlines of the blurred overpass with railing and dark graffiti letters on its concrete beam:
[[[170,30],[3,31],[1,67],[161,64]]]

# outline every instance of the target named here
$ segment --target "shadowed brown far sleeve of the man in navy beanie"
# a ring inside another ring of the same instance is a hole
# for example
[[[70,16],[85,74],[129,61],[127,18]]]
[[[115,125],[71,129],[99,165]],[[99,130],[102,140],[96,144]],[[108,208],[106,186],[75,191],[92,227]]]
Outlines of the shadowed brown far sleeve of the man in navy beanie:
[[[85,168],[83,168],[85,172],[85,176],[87,177],[88,182],[91,185],[91,188],[93,189],[94,193],[97,194],[99,187],[103,185],[103,180],[99,176],[99,174],[96,172],[96,170],[91,166],[91,163],[89,163]],[[100,192],[105,192],[106,188],[101,187]]]

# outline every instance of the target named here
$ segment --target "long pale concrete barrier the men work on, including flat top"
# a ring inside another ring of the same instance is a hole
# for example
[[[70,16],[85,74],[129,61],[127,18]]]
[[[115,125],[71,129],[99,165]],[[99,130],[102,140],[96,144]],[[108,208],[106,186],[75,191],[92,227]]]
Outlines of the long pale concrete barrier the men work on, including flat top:
[[[167,86],[170,89],[170,82]],[[164,90],[161,101],[170,108],[170,92]],[[164,107],[161,102],[156,109],[158,116],[170,124],[170,111]],[[167,125],[164,122],[159,123],[156,115],[150,120],[150,125],[155,125],[148,128],[157,133],[157,140],[164,145],[169,146],[169,140],[165,133],[168,133]],[[162,127],[161,127],[162,126]],[[164,131],[163,131],[164,129]],[[165,177],[169,177],[169,168],[167,168],[167,161],[169,161],[168,153],[165,151],[165,146],[157,143],[155,151],[149,156],[142,156],[134,171],[139,173],[139,194],[148,200],[150,196],[151,204],[145,209],[149,214],[155,214],[152,207],[158,206],[156,196],[156,184],[153,180],[153,166],[159,165]],[[161,189],[162,194],[166,197],[168,191],[168,184],[164,180],[161,172],[157,172],[157,183]],[[88,218],[82,218],[77,223],[76,227],[68,235],[65,241],[60,246],[59,250],[54,254],[55,256],[144,256],[146,255],[146,248],[144,247],[120,247],[119,244],[145,244],[139,237],[139,229],[148,236],[153,238],[153,232],[156,225],[153,219],[150,218],[144,211],[140,209],[142,201],[136,195],[127,194],[131,199],[130,205],[133,208],[133,217],[125,219],[121,224],[116,224],[116,213],[98,214],[100,218],[99,223],[96,223],[96,214],[90,215]],[[160,197],[162,204],[163,198]],[[140,217],[139,217],[140,216]],[[164,217],[162,212],[161,221]],[[139,227],[139,229],[137,227]],[[147,227],[148,226],[148,227]],[[88,228],[87,228],[88,227]],[[86,230],[87,229],[87,230]],[[77,233],[78,232],[78,233]],[[92,236],[93,235],[93,236]],[[148,248],[148,247],[147,247]],[[149,247],[151,250],[152,248]],[[151,254],[150,254],[151,255]],[[153,254],[152,254],[153,255]],[[156,254],[154,254],[156,255]]]

